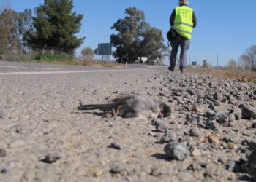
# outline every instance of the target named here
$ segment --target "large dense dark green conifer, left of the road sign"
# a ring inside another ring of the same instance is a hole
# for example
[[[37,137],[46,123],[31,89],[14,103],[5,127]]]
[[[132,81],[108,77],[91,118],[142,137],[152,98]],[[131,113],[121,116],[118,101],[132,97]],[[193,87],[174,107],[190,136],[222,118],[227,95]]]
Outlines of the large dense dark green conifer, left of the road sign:
[[[66,52],[75,51],[83,44],[84,37],[78,39],[83,15],[72,12],[72,0],[45,0],[36,8],[33,18],[34,29],[26,33],[26,43],[30,47],[55,47]]]

